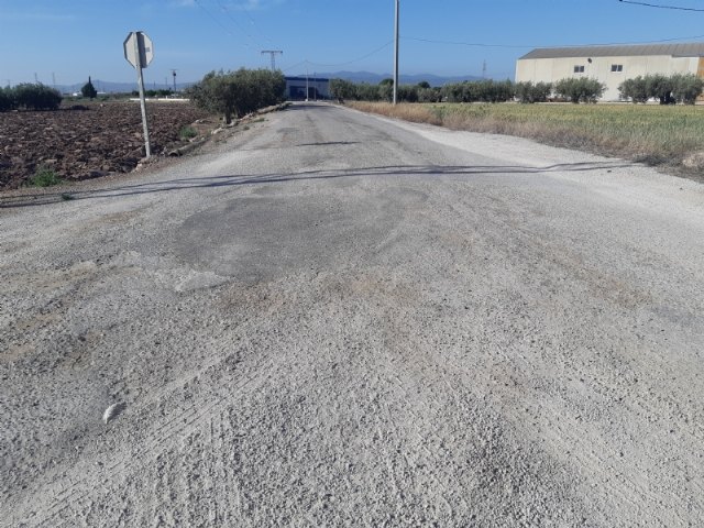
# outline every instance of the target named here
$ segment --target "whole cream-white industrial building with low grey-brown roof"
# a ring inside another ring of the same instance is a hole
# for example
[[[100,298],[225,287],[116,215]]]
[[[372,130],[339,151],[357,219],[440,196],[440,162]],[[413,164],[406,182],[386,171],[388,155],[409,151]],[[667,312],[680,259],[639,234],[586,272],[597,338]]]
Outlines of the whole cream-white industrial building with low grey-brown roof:
[[[704,43],[546,47],[516,63],[516,82],[591,77],[606,85],[604,101],[618,100],[618,86],[624,80],[654,74],[704,77]]]

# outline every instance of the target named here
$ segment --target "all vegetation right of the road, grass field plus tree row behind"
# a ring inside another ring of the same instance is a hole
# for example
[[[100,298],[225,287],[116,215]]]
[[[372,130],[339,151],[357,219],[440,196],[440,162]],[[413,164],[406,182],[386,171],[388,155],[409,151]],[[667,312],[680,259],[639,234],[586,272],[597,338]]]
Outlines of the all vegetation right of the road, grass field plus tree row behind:
[[[479,80],[430,87],[374,87],[334,79],[331,94],[359,110],[455,130],[529,138],[684,172],[704,169],[704,80],[646,76],[619,87],[624,102],[595,105],[604,86],[586,77],[549,82]],[[638,105],[657,101],[660,105]],[[572,102],[573,105],[560,105]],[[542,105],[536,105],[542,103]]]

